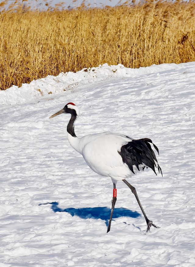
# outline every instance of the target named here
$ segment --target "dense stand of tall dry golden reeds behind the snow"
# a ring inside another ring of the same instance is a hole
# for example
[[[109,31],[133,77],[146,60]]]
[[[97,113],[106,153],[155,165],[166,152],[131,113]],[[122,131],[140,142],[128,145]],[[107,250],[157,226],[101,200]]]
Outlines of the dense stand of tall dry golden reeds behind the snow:
[[[0,89],[83,68],[195,61],[195,2],[31,10],[0,3]],[[15,2],[17,3],[17,2]],[[47,6],[47,3],[45,3]]]

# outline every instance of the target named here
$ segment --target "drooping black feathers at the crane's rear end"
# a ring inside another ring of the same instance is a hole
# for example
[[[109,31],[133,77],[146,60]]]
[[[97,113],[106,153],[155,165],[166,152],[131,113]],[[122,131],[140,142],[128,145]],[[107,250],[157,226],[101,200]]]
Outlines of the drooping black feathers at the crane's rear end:
[[[152,140],[149,138],[142,138],[137,140],[133,139],[132,141],[128,142],[128,144],[123,145],[120,152],[118,151],[122,157],[122,161],[128,165],[132,173],[134,173],[133,165],[135,165],[137,169],[140,170],[139,165],[142,164],[143,166],[148,166],[149,168],[151,168],[156,174],[155,161],[158,161],[149,143],[152,143]],[[157,146],[155,144],[153,144],[153,146],[159,155]],[[161,167],[158,165],[157,168],[158,172],[162,175]]]

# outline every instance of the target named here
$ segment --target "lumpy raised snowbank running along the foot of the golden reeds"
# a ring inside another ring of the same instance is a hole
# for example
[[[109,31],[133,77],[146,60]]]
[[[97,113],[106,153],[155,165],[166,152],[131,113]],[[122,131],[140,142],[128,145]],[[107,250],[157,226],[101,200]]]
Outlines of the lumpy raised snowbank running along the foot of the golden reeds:
[[[48,75],[45,78],[33,80],[30,84],[22,84],[21,87],[13,85],[5,91],[0,91],[0,105],[20,104],[41,96],[52,96],[74,88],[82,84],[97,83],[108,78],[115,77],[139,77],[149,73],[159,73],[170,69],[179,69],[181,64],[160,64],[139,69],[130,69],[122,64],[108,66],[107,63],[98,67],[85,68],[76,73],[60,73],[58,76]]]

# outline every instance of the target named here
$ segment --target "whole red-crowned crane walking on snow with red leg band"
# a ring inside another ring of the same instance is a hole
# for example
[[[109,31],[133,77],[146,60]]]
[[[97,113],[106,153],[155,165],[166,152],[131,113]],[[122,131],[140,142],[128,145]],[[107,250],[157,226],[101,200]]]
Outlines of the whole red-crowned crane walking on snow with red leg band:
[[[126,183],[135,195],[146,219],[146,232],[150,230],[151,226],[160,228],[147,218],[137,196],[135,187],[126,181],[126,178],[135,174],[135,171],[140,171],[140,169],[144,170],[145,167],[151,168],[155,174],[155,168],[157,168],[158,172],[162,174],[154,151],[149,144],[152,143],[151,139],[133,139],[123,134],[113,134],[109,132],[89,134],[78,138],[74,132],[74,123],[80,114],[79,108],[73,103],[68,103],[63,109],[53,114],[50,118],[62,113],[71,115],[67,125],[67,137],[71,146],[83,156],[87,165],[94,172],[102,176],[111,177],[112,179],[114,188],[107,233],[110,231],[112,214],[116,203],[116,183],[118,181]],[[154,148],[158,152],[158,148],[155,145]]]

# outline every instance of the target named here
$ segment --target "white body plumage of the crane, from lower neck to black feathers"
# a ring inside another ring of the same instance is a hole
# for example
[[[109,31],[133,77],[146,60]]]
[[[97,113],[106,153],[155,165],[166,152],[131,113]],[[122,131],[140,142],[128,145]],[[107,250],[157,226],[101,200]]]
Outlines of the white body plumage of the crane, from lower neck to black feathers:
[[[111,177],[115,183],[133,175],[118,153],[122,145],[128,144],[132,138],[109,132],[89,134],[81,138],[72,137],[67,132],[67,137],[71,146],[83,156],[94,172]]]

